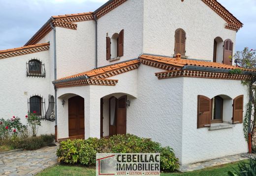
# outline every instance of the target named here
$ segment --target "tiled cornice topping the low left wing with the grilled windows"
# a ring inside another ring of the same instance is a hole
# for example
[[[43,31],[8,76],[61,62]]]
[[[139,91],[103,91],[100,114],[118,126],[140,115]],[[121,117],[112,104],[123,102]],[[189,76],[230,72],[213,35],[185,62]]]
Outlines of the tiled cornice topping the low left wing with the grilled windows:
[[[50,46],[49,43],[42,43],[42,44],[30,45],[26,47],[0,50],[0,59],[49,50],[50,48],[49,46]]]

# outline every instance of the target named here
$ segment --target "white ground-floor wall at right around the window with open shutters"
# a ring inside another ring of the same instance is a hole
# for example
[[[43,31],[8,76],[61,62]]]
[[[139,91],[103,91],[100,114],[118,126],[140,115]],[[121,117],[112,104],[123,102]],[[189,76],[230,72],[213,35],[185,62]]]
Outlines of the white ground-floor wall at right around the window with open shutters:
[[[184,78],[182,111],[183,164],[248,151],[243,133],[243,124],[236,124],[232,128],[211,131],[208,128],[197,129],[197,95],[204,95],[210,99],[217,95],[227,95],[232,99],[239,95],[244,95],[245,115],[248,102],[247,92],[247,88],[239,80]],[[226,106],[225,104],[224,108],[227,108]],[[232,109],[232,106],[229,108]],[[223,118],[230,121],[232,118],[230,117],[230,111],[224,114]]]

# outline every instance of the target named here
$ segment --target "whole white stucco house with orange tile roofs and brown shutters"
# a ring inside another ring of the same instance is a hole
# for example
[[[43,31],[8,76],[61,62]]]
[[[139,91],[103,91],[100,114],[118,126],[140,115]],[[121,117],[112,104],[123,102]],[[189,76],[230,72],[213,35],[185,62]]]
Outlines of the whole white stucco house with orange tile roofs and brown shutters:
[[[242,25],[217,0],[109,0],[53,16],[0,51],[0,114],[36,110],[39,133],[57,140],[152,138],[181,164],[247,152],[241,80],[253,71],[229,73]]]

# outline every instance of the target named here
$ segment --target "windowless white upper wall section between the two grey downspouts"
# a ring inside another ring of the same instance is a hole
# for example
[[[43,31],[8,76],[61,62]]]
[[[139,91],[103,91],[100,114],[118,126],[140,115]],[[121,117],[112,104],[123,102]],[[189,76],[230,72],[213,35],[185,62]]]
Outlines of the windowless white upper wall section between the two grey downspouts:
[[[77,30],[56,27],[57,78],[95,68],[95,22],[76,22]]]

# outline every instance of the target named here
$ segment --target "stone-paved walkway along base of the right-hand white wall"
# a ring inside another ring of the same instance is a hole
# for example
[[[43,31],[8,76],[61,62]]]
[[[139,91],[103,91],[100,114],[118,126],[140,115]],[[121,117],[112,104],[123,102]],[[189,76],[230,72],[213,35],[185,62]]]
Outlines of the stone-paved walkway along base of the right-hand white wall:
[[[195,170],[200,170],[208,167],[213,167],[213,166],[219,166],[227,163],[232,163],[236,161],[242,161],[245,159],[248,159],[249,154],[237,154],[237,155],[232,155],[232,156],[225,156],[222,158],[217,158],[217,159],[212,159],[204,162],[198,162],[194,164],[189,164],[189,165],[184,165],[181,166],[180,171],[181,172],[189,172],[189,171],[195,171]]]

